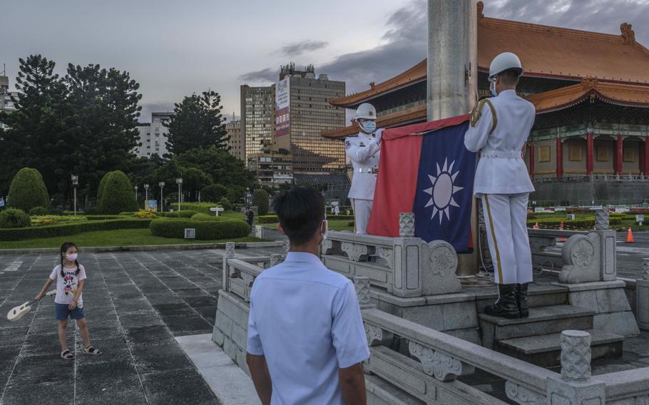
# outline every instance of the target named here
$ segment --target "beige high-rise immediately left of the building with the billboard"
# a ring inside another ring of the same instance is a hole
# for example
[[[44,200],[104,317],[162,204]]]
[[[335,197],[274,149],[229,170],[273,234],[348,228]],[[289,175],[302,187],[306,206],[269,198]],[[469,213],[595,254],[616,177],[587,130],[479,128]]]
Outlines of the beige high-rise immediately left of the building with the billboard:
[[[272,86],[241,86],[241,136],[244,161],[260,153],[264,140],[272,140],[275,128],[275,97]]]

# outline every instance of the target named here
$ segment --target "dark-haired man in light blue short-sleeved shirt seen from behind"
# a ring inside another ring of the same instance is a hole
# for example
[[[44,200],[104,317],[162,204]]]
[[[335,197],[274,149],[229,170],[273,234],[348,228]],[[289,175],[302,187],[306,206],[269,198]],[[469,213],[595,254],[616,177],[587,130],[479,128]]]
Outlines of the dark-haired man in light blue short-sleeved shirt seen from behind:
[[[272,204],[290,241],[285,262],[252,284],[247,364],[262,404],[366,404],[369,357],[352,282],[322,265],[324,200],[292,188]]]

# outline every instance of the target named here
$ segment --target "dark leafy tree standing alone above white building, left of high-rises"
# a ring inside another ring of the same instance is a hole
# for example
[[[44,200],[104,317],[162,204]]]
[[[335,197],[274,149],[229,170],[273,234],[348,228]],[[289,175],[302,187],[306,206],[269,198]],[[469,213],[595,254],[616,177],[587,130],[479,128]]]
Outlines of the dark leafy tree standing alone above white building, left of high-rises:
[[[221,114],[221,96],[214,91],[203,91],[185,97],[175,104],[168,123],[167,150],[178,155],[194,148],[228,148],[225,118]]]

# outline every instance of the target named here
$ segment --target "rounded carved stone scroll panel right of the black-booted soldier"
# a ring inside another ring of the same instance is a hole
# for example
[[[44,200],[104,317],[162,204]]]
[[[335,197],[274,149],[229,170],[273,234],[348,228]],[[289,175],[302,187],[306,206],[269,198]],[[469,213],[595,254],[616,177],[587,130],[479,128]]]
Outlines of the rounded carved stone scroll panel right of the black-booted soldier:
[[[567,284],[601,280],[600,236],[596,233],[573,235],[561,251],[563,269],[559,281]]]

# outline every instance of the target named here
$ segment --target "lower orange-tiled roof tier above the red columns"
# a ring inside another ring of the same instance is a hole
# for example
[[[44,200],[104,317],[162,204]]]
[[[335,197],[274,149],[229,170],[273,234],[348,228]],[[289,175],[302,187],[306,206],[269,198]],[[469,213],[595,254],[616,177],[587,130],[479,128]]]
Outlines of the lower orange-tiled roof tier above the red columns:
[[[587,78],[580,84],[534,94],[527,99],[534,104],[537,114],[543,114],[575,106],[591,97],[618,106],[648,108],[649,86],[608,83]]]

